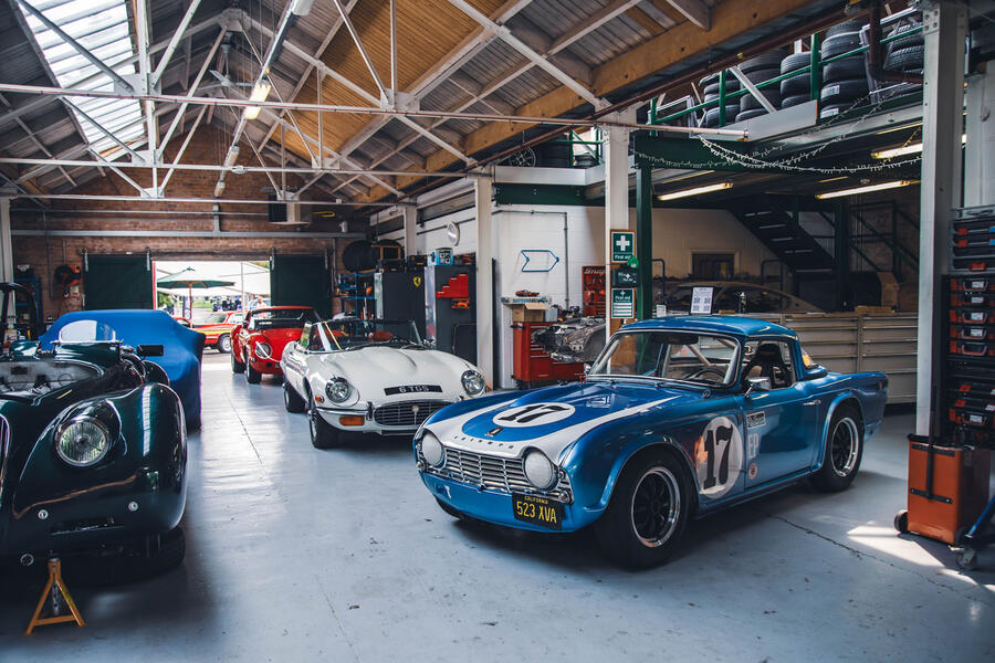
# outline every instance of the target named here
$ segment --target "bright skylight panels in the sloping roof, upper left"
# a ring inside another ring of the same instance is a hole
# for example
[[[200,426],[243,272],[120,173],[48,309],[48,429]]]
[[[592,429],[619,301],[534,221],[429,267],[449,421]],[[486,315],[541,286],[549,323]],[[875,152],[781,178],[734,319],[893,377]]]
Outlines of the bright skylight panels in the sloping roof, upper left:
[[[126,0],[27,1],[114,72],[123,76],[136,73],[135,63],[128,62],[135,55],[135,51],[128,30]],[[65,43],[34,15],[23,8],[21,11],[59,85],[77,90],[114,91],[114,81],[108,75],[91,64],[75,48]],[[84,80],[86,82],[81,83]],[[98,152],[106,154],[117,149],[118,156],[123,154],[119,146],[101,127],[126,145],[145,135],[139,102],[76,97],[67,99],[67,104],[73,108],[86,140]],[[76,110],[77,108],[101,127],[91,123]]]

